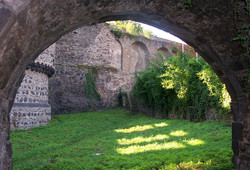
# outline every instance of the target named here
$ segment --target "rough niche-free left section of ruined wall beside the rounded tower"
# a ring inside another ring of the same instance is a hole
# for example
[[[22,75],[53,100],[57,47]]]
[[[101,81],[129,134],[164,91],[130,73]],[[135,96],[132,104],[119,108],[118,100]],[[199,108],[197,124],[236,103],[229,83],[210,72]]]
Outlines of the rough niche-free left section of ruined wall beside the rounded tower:
[[[97,70],[97,87],[101,100],[97,109],[114,107],[114,89],[109,89],[110,74],[121,69],[121,46],[104,24],[77,29],[56,43],[56,73],[50,79],[49,100],[53,114],[84,112],[90,108],[83,81],[88,69]],[[119,90],[119,89],[118,89]]]

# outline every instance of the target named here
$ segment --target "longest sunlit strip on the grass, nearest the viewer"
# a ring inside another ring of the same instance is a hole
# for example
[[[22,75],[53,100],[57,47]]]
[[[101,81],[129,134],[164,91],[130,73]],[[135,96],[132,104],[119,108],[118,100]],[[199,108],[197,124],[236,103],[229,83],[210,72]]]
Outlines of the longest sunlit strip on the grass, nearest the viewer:
[[[120,154],[133,154],[133,153],[141,153],[147,151],[156,151],[156,150],[167,150],[167,149],[177,149],[177,148],[184,148],[185,145],[180,144],[178,142],[168,142],[168,143],[153,143],[148,145],[133,145],[127,148],[118,148],[116,151]]]

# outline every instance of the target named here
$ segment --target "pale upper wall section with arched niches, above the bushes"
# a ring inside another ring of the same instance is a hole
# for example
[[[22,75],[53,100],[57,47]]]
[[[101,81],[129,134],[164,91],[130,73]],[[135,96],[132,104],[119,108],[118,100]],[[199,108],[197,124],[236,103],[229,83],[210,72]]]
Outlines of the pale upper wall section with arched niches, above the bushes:
[[[176,54],[177,50],[182,50],[182,46],[186,47],[184,52],[189,52],[193,57],[194,49],[186,44],[177,43],[170,40],[153,37],[148,39],[141,36],[122,36],[119,38],[122,45],[122,71],[127,73],[134,73],[147,67],[151,58],[158,57],[157,51],[163,51],[166,54]],[[189,48],[188,48],[189,47]],[[175,51],[176,49],[176,51]]]

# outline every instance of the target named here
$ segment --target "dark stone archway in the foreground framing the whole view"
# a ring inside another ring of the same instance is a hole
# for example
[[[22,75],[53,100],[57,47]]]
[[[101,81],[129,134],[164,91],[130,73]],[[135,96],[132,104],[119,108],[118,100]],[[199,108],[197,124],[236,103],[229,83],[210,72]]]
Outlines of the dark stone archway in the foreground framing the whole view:
[[[245,1],[0,1],[0,169],[12,168],[9,111],[25,67],[53,42],[84,25],[131,19],[182,38],[211,65],[232,97],[234,162],[250,165],[248,55],[232,41],[248,24]],[[237,13],[235,13],[237,11]],[[233,21],[232,21],[233,20]],[[240,29],[239,29],[240,28]],[[249,31],[249,30],[248,30]]]

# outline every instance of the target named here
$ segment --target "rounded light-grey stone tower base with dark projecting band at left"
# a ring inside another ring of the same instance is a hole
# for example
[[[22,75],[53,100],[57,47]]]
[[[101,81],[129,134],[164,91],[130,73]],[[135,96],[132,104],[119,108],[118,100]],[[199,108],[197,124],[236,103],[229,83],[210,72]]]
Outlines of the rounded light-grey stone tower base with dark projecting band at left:
[[[34,63],[26,67],[10,112],[11,129],[28,129],[45,125],[51,119],[48,103],[48,78],[54,70],[55,45],[47,48]]]

